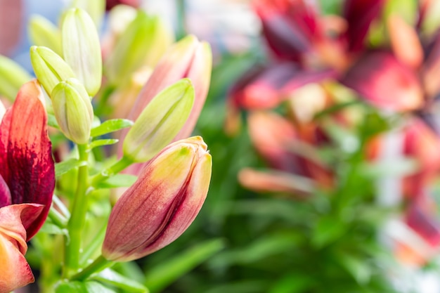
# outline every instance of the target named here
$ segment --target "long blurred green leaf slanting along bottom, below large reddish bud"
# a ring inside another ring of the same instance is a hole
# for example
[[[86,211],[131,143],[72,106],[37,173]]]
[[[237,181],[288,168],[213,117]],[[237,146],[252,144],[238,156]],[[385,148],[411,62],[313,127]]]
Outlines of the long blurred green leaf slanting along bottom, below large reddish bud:
[[[145,276],[145,285],[150,289],[150,292],[160,292],[181,275],[192,270],[223,248],[224,241],[214,239],[195,245],[185,252],[180,252],[173,258],[150,269]]]

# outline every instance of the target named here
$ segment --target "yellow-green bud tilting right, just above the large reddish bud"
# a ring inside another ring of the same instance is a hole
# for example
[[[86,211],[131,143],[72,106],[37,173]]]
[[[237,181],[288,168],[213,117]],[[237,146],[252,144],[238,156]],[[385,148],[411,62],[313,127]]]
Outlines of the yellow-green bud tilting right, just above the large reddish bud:
[[[188,119],[194,103],[194,88],[181,79],[161,91],[142,111],[124,139],[124,157],[146,162],[169,144]]]

